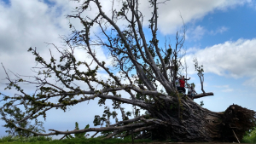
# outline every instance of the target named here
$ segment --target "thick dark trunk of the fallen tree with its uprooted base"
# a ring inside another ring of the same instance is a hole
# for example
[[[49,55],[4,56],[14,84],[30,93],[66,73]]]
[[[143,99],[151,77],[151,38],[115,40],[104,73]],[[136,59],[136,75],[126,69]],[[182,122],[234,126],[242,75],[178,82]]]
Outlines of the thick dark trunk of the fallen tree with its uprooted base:
[[[168,109],[168,105],[160,110],[154,108],[157,118],[169,122],[160,124],[153,131],[155,139],[233,142],[237,141],[236,136],[241,140],[245,132],[255,126],[255,112],[238,105],[231,105],[225,112],[211,112],[190,99],[182,100],[181,105],[183,111],[180,120],[173,119],[177,118],[177,108]]]

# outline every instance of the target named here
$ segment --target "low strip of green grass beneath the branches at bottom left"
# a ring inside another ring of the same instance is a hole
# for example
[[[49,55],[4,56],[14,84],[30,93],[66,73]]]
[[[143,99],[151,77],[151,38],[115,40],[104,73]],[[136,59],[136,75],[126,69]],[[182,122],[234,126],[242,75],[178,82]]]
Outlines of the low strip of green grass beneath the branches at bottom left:
[[[93,143],[93,144],[113,144],[113,143],[131,143],[131,139],[107,139],[102,140],[102,137],[99,138],[73,138],[73,139],[64,139],[64,140],[52,140],[51,137],[44,136],[32,136],[28,138],[24,137],[12,137],[12,136],[3,136],[0,138],[0,144],[80,144],[80,143]],[[150,142],[150,140],[135,140],[134,142]]]

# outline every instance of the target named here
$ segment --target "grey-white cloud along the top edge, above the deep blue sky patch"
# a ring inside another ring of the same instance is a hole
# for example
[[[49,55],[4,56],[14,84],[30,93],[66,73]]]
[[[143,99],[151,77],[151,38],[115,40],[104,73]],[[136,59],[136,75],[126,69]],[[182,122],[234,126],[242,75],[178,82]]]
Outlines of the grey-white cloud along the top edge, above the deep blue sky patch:
[[[143,1],[144,3],[144,1]],[[160,32],[163,34],[169,34],[176,32],[180,26],[183,26],[183,21],[185,24],[200,20],[205,15],[214,12],[215,10],[226,10],[229,8],[235,8],[238,5],[243,5],[245,3],[252,3],[251,0],[172,0],[166,2],[166,4],[160,4],[159,9],[159,28]],[[148,11],[148,5],[141,5],[142,11]],[[145,21],[149,19],[149,14],[146,13]],[[183,17],[183,20],[181,17]],[[147,23],[145,23],[146,25]]]

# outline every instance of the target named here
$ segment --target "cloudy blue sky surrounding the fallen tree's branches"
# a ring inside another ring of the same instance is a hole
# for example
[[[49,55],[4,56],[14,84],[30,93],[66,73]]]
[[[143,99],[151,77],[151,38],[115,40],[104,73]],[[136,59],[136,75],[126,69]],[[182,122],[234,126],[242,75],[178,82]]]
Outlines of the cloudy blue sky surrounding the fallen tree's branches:
[[[145,2],[140,1],[140,9],[146,19],[150,13],[147,13]],[[47,43],[61,46],[60,37],[70,32],[68,22],[79,27],[78,21],[66,19],[76,6],[77,3],[68,0],[0,0],[0,62],[12,72],[32,75],[31,67],[36,63],[27,49],[37,47],[41,55],[49,57],[52,46]],[[106,0],[102,1],[102,6],[107,11],[111,8]],[[213,92],[214,96],[196,102],[204,101],[204,107],[214,112],[222,112],[233,103],[256,111],[255,1],[172,0],[160,6],[159,16],[160,42],[164,42],[164,37],[174,41],[175,33],[184,22],[188,77],[195,83],[198,93],[201,89],[193,58],[197,57],[204,66],[205,90]],[[146,29],[147,23],[144,25]],[[104,55],[102,49],[97,49],[97,53],[102,60],[108,61],[108,55]],[[79,51],[80,59],[84,55]],[[12,91],[3,90],[4,78],[1,67],[0,92],[12,94]],[[27,86],[27,89],[32,88]],[[86,124],[92,126],[94,115],[102,111],[103,107],[97,107],[96,101],[76,105],[66,113],[52,111],[44,127],[45,130],[73,130],[76,121],[81,128]],[[0,121],[0,125],[3,124]],[[2,127],[1,135],[6,135]]]

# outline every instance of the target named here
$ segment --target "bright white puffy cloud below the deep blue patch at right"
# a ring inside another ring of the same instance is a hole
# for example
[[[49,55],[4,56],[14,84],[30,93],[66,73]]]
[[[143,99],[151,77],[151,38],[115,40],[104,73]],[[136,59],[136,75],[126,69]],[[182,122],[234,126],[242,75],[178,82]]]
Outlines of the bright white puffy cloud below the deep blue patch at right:
[[[256,39],[238,39],[198,49],[195,54],[186,55],[190,67],[194,67],[193,58],[196,56],[199,64],[204,66],[205,72],[212,72],[220,76],[241,78],[256,75]],[[193,48],[195,49],[195,48]],[[189,69],[189,73],[195,73]]]

